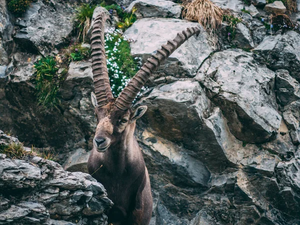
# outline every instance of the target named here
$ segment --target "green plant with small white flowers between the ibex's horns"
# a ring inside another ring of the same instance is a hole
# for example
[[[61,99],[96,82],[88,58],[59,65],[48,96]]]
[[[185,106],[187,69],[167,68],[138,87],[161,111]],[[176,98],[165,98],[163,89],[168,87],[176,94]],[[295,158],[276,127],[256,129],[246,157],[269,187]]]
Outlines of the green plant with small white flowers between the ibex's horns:
[[[117,97],[138,71],[140,61],[130,55],[129,42],[119,29],[110,28],[105,34],[105,53],[111,90]]]

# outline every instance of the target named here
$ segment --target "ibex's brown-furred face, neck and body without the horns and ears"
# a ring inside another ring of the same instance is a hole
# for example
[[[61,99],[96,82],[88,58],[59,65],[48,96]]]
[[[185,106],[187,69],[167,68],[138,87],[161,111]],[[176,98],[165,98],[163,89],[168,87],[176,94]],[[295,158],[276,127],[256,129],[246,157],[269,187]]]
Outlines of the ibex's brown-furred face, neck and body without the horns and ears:
[[[141,150],[133,135],[134,112],[112,104],[96,107],[98,125],[95,138],[104,138],[102,146],[94,145],[88,159],[88,172],[102,183],[114,205],[107,212],[108,224],[148,225],[152,214],[149,175]],[[138,117],[138,116],[137,116]],[[122,122],[127,119],[127,122]],[[95,144],[95,143],[94,143]]]

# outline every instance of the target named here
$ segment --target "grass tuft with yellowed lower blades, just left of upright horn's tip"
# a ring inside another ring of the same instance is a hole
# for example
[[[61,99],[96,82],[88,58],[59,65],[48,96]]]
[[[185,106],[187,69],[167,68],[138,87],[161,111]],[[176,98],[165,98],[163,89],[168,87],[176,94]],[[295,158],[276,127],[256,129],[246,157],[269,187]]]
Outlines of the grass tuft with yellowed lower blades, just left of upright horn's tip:
[[[80,42],[80,40],[84,40],[84,37],[90,27],[92,14],[96,6],[97,5],[82,4],[76,9],[76,19],[78,20],[77,42]]]

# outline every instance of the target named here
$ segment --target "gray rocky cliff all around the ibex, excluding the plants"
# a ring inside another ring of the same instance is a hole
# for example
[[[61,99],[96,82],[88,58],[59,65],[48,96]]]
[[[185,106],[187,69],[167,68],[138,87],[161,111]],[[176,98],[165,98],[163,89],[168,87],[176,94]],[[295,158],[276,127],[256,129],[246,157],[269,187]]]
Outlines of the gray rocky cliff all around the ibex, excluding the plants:
[[[116,2],[127,11],[136,8],[137,20],[124,35],[133,40],[131,54],[142,60],[177,32],[197,25],[181,19],[182,7],[173,1]],[[148,106],[135,135],[150,174],[150,224],[300,224],[300,13],[286,12],[293,26],[274,29],[280,23],[270,24],[268,13],[285,11],[281,1],[267,6],[264,0],[212,2],[239,18],[234,38],[226,21],[218,35],[202,29],[158,68],[135,103]],[[93,217],[86,204],[93,204],[85,201],[98,199],[90,209],[98,210],[106,199],[100,184],[76,172],[86,171],[96,123],[89,97],[91,62],[69,63],[60,103],[51,111],[40,110],[30,80],[38,55],[57,54],[69,43],[79,3],[37,0],[13,17],[0,1],[0,128],[12,130],[28,146],[58,152],[59,162],[73,172],[40,158],[31,159],[32,165],[1,155],[11,164],[8,173],[25,164],[32,177],[0,176],[5,188],[26,188],[12,200],[1,192],[0,222],[13,207],[26,208],[14,218],[16,224],[48,222],[56,214],[86,224]],[[0,170],[6,168],[2,162]],[[61,174],[76,184],[60,182]],[[63,194],[67,200],[59,199]],[[72,208],[72,214],[55,211],[61,207]],[[101,224],[97,221],[91,224]]]

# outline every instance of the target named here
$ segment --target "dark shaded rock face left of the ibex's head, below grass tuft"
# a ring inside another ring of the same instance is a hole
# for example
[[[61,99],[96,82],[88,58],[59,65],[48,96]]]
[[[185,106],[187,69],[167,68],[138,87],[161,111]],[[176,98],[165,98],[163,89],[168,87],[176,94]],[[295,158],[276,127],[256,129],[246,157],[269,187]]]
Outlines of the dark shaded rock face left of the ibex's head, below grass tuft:
[[[12,132],[22,130],[18,137],[36,147],[55,147],[60,152],[91,149],[96,121],[90,100],[93,90],[90,65],[88,61],[70,63],[59,90],[59,108],[51,111],[37,105],[30,76],[22,74],[8,82],[7,77],[0,79],[1,125]],[[12,92],[14,94],[9,94]]]

